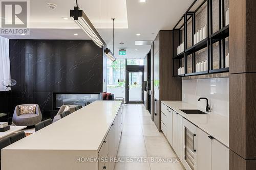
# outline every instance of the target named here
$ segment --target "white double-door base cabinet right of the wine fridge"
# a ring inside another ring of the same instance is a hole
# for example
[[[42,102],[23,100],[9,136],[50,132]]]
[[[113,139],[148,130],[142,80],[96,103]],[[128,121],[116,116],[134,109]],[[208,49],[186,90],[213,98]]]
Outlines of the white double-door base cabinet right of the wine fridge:
[[[229,170],[229,149],[197,128],[197,170]]]

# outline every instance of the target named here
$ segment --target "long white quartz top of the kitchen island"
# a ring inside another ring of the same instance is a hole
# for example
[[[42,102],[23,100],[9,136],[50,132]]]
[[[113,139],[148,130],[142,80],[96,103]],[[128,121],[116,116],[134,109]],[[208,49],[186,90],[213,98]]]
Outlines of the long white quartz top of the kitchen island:
[[[99,150],[121,101],[95,101],[4,150]]]

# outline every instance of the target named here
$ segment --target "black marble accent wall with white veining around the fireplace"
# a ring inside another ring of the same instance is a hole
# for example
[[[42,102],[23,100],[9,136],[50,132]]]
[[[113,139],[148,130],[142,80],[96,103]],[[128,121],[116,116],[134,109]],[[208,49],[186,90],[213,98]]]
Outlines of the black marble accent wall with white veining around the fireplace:
[[[53,92],[102,92],[104,60],[91,40],[10,40],[11,78],[17,81],[11,108],[35,103],[47,112]]]

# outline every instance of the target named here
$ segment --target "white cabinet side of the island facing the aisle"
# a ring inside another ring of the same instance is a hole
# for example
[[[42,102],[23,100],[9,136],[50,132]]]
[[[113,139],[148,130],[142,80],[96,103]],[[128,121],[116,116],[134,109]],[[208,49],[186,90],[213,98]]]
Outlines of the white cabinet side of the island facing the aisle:
[[[117,156],[117,151],[119,147],[120,137],[122,133],[122,106],[120,107],[114,122],[105,137],[101,148],[98,153],[98,157],[102,160],[107,158],[107,160],[100,160],[98,163],[98,170],[114,170],[115,161],[114,158]]]

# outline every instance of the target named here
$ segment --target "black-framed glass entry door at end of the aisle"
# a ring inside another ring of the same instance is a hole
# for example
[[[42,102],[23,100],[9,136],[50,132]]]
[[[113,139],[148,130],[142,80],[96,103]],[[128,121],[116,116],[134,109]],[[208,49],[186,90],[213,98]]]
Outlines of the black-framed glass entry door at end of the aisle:
[[[142,71],[128,71],[128,103],[142,103]]]

